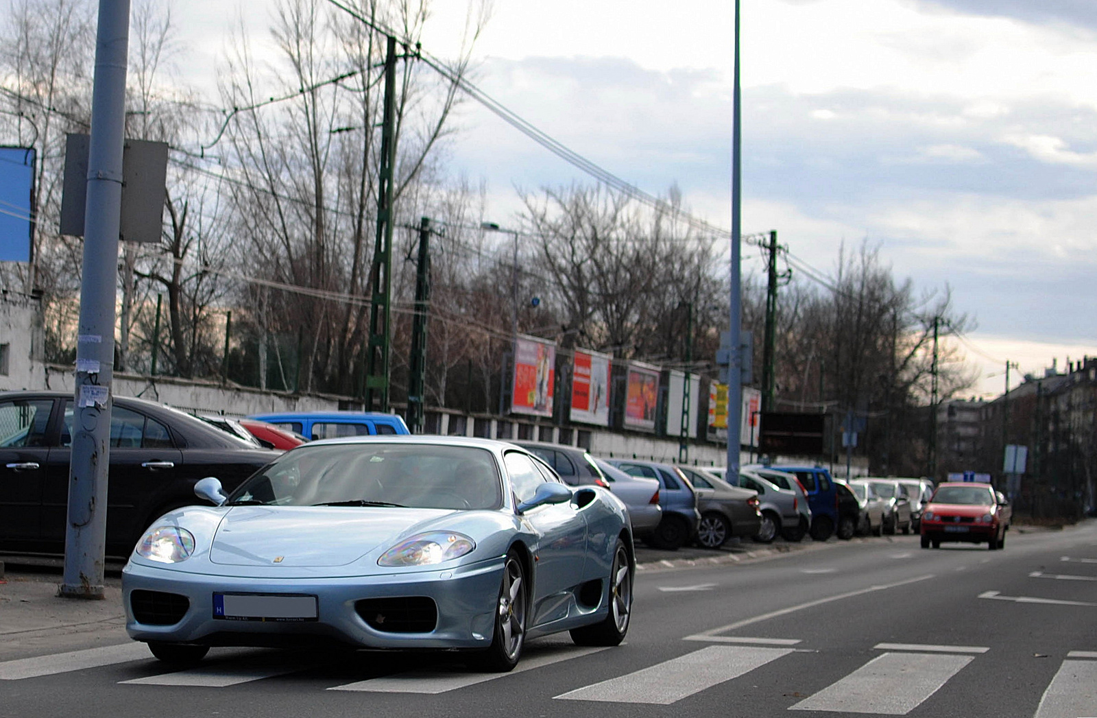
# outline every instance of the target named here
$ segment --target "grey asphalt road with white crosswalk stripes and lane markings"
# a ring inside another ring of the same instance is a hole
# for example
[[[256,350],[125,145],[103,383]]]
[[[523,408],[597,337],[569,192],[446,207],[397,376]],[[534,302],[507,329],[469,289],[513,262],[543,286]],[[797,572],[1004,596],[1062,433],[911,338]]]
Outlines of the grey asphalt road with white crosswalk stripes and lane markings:
[[[1097,716],[1097,523],[1003,551],[897,536],[645,570],[625,644],[531,641],[505,675],[244,649],[171,673],[142,648],[0,663],[0,716]]]

